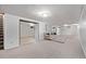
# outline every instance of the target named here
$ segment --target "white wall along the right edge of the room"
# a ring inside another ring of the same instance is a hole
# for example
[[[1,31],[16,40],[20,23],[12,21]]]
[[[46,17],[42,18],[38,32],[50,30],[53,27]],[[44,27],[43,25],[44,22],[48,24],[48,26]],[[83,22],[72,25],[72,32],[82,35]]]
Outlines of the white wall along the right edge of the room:
[[[81,37],[81,44],[86,55],[86,5],[84,7],[79,20],[79,37]]]

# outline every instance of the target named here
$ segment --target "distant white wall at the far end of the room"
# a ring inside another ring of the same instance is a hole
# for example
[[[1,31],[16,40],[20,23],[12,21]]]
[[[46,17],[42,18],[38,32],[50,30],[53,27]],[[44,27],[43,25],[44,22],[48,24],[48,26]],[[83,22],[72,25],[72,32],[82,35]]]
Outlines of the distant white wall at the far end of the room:
[[[62,26],[60,28],[60,35],[78,35],[77,25]]]

